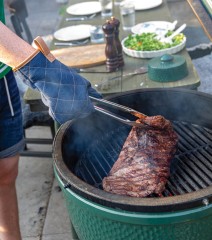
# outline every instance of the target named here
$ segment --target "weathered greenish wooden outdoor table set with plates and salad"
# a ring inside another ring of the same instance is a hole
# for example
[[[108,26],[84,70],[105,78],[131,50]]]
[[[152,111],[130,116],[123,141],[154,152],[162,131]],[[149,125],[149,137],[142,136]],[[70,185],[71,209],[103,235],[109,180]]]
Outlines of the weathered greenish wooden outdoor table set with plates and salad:
[[[79,2],[78,0],[71,0],[71,4],[75,4],[78,2]],[[113,5],[113,15],[116,18],[120,19],[118,6]],[[106,19],[102,18],[100,13],[97,14],[95,18],[91,20],[83,21],[83,22],[82,21],[67,22],[65,21],[66,17],[70,17],[70,15],[67,13],[64,13],[64,17],[60,27],[66,27],[66,26],[76,25],[76,24],[100,25],[100,24],[104,24],[107,19],[107,18]],[[140,22],[146,22],[146,21],[170,21],[170,22],[173,21],[173,19],[169,14],[169,9],[168,9],[166,0],[163,0],[162,5],[156,8],[145,10],[145,11],[142,11],[142,10],[136,11],[136,24]],[[120,39],[123,39],[129,33],[130,32],[123,31],[122,28],[120,27]],[[52,49],[58,48],[54,46],[54,40],[52,42],[51,48]],[[125,66],[123,67],[123,69],[120,69],[117,72],[101,73],[101,74],[100,73],[83,73],[83,74],[81,73],[81,74],[92,83],[92,86],[94,88],[106,82],[106,84],[103,85],[104,87],[101,87],[101,88],[98,87],[98,91],[100,91],[103,95],[111,95],[114,93],[126,92],[130,90],[141,89],[141,88],[179,87],[179,88],[189,88],[189,89],[196,90],[197,87],[200,85],[200,79],[192,64],[189,54],[187,53],[186,49],[183,49],[181,52],[177,54],[182,55],[186,59],[186,62],[188,65],[188,72],[189,72],[187,77],[179,81],[164,82],[164,83],[155,82],[148,78],[147,73],[131,76],[129,78],[122,78],[123,73],[129,72],[143,65],[146,66],[149,61],[149,59],[133,58],[133,57],[127,56],[126,54],[124,54]],[[106,70],[106,66],[101,65],[101,66],[95,67],[95,69]],[[119,76],[119,77],[115,81],[110,81],[110,84],[108,85],[107,79],[114,76]],[[30,104],[32,111],[40,111],[45,109],[44,105],[41,102],[40,94],[37,91],[28,89],[24,98],[25,98],[25,101]]]

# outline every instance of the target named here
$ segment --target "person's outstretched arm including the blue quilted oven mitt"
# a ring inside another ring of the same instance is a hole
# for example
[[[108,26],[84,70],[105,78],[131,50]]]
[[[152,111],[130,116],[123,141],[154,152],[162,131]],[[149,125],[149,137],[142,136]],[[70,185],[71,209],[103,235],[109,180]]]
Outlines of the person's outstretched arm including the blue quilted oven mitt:
[[[101,97],[75,69],[55,59],[41,37],[37,49],[0,22],[0,62],[17,71],[19,79],[41,92],[49,113],[60,124],[94,111],[89,95]]]

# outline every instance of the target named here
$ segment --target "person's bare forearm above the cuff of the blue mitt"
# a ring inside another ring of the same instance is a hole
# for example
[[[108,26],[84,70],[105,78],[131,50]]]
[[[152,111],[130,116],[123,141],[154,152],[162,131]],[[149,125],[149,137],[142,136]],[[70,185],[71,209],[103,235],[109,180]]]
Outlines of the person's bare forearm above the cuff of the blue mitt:
[[[0,62],[14,68],[37,50],[0,22]]]

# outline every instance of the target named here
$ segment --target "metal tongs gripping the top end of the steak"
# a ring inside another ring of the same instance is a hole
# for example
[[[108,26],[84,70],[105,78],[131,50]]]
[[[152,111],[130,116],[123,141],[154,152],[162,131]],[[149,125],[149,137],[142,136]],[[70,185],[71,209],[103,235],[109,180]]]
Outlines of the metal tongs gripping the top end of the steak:
[[[110,102],[108,100],[105,100],[105,99],[99,99],[99,98],[95,98],[95,97],[91,97],[89,96],[90,99],[96,101],[96,102],[100,102],[100,103],[103,103],[107,106],[110,106],[110,107],[113,107],[113,108],[116,108],[116,109],[119,109],[119,110],[122,110],[124,112],[127,112],[127,113],[130,113],[136,117],[138,117],[139,119],[142,119],[142,118],[146,118],[147,116],[143,113],[140,113],[132,108],[129,108],[129,107],[125,107],[123,105],[120,105],[120,104],[117,104],[117,103],[114,103],[114,102]],[[116,115],[115,113],[112,113],[104,108],[101,108],[99,106],[96,106],[94,105],[94,108],[96,111],[98,112],[101,112],[109,117],[112,117],[122,123],[125,123],[127,125],[130,125],[130,126],[136,126],[136,127],[143,127],[143,128],[146,128],[146,127],[149,127],[148,125],[145,125],[145,123],[139,123],[139,122],[136,122],[136,121],[131,121],[127,118],[124,118],[124,117],[120,117],[118,115]]]

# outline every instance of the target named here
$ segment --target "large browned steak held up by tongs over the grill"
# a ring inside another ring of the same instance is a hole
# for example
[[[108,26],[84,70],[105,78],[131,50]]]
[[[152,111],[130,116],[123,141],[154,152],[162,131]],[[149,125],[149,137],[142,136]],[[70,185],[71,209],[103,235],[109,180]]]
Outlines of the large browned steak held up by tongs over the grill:
[[[160,196],[170,175],[178,137],[162,116],[140,118],[132,127],[117,161],[102,181],[107,192],[132,197]]]

